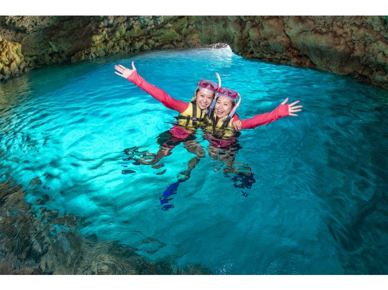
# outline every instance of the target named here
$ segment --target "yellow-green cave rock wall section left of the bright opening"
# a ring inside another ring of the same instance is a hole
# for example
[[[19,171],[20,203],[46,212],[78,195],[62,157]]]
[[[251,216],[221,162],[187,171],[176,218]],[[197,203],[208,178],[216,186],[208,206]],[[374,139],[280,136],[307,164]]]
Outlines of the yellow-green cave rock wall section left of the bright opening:
[[[199,46],[194,16],[0,16],[0,81],[54,63]]]

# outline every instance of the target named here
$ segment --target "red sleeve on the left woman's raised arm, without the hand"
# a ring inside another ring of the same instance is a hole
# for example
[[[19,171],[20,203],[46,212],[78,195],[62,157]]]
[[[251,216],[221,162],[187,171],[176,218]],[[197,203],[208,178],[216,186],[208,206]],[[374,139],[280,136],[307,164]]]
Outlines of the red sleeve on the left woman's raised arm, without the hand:
[[[162,104],[165,107],[167,107],[168,109],[173,109],[173,110],[178,111],[179,113],[182,113],[182,112],[186,111],[187,107],[189,106],[189,103],[178,101],[175,98],[168,95],[162,89],[147,82],[144,78],[142,78],[137,73],[136,70],[129,75],[127,80],[133,82],[135,85],[137,85],[143,91],[146,91],[152,97],[154,97],[158,101],[162,102]]]

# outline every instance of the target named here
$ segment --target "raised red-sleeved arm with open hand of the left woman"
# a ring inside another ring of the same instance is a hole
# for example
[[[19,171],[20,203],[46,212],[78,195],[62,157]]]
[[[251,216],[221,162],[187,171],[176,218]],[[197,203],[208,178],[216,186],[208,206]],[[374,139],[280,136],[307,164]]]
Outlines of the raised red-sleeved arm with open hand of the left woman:
[[[136,67],[135,67],[133,62],[132,62],[132,69],[126,68],[125,66],[123,66],[121,64],[115,65],[114,68],[117,70],[117,72],[116,71],[114,72],[116,75],[119,75],[120,77],[126,78],[128,81],[133,82],[135,85],[137,85],[143,91],[147,92],[152,97],[154,97],[158,101],[162,102],[162,104],[165,107],[167,107],[169,109],[176,110],[179,113],[182,113],[189,106],[189,103],[176,100],[175,98],[168,95],[162,89],[147,82],[144,78],[142,78],[137,73]]]

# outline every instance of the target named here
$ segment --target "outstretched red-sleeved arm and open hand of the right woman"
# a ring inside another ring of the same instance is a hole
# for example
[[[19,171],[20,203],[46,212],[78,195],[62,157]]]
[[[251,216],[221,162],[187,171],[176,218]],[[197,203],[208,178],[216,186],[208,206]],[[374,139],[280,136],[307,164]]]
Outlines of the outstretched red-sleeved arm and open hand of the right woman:
[[[290,115],[297,116],[297,114],[294,113],[302,111],[299,108],[302,108],[303,106],[294,106],[295,104],[299,103],[299,101],[286,104],[287,101],[288,98],[286,98],[279,106],[277,106],[274,111],[270,113],[259,114],[253,118],[241,120],[242,129],[255,129],[258,126],[267,125],[271,122],[274,122],[281,117],[287,117]]]

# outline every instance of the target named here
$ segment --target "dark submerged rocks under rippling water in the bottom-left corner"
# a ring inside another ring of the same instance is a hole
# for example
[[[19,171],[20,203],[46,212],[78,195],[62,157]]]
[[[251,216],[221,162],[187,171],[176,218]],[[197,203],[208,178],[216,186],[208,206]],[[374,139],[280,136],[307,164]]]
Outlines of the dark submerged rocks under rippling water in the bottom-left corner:
[[[199,264],[178,267],[168,257],[155,262],[136,248],[83,236],[83,219],[35,210],[24,197],[20,185],[0,184],[0,274],[211,274]],[[42,195],[38,204],[48,199]]]

